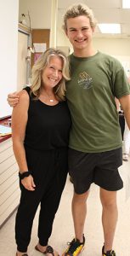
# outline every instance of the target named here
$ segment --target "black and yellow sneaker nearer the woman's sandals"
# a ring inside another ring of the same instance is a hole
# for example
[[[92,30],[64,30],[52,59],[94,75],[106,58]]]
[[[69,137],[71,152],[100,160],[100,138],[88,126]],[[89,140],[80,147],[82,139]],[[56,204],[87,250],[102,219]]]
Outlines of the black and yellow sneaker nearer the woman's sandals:
[[[82,252],[85,244],[85,237],[83,235],[83,241],[80,242],[78,239],[74,238],[71,242],[68,242],[69,247],[65,250],[62,256],[77,256]]]

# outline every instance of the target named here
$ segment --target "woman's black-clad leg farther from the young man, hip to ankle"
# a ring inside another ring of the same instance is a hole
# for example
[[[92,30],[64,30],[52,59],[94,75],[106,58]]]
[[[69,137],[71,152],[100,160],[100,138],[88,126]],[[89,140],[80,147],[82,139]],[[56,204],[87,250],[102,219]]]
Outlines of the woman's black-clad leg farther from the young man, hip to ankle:
[[[34,151],[31,148],[26,148],[26,159],[28,168],[32,172],[36,188],[34,191],[29,191],[25,189],[23,185],[20,185],[20,206],[15,223],[15,239],[18,251],[20,252],[26,252],[31,240],[32,223],[37,212],[37,207],[44,194],[44,180],[46,175],[46,170],[44,171],[42,167],[43,162],[46,163],[46,160],[44,160],[42,153],[40,154],[40,152]]]

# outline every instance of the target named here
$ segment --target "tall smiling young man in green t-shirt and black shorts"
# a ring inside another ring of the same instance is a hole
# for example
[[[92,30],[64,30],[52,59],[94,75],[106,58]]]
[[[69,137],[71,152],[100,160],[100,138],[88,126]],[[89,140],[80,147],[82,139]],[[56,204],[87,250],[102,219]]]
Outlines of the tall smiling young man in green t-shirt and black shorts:
[[[66,97],[71,110],[69,166],[74,183],[72,215],[76,238],[63,256],[77,256],[84,247],[83,229],[91,183],[99,185],[103,207],[103,256],[116,256],[116,191],[122,189],[122,136],[116,111],[119,99],[130,129],[130,90],[123,67],[115,58],[93,48],[96,20],[93,12],[77,4],[65,13],[64,29],[74,52],[70,55],[71,81]],[[18,102],[17,97],[8,102]]]

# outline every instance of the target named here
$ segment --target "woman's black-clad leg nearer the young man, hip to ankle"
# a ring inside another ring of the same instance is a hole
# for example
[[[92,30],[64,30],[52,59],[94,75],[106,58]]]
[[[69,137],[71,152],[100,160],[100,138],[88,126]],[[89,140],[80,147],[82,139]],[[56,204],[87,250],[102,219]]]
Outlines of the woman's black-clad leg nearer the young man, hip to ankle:
[[[48,170],[48,186],[42,197],[41,210],[39,214],[38,237],[41,246],[48,245],[51,236],[54,216],[59,207],[59,201],[65,187],[67,176],[67,153],[60,152],[52,158],[52,166]]]

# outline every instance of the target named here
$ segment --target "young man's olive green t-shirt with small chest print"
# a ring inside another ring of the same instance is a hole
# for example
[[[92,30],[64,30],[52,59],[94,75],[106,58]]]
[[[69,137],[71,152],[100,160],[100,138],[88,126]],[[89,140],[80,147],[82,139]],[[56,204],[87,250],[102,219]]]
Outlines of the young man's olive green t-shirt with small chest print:
[[[116,98],[130,94],[122,64],[98,52],[88,58],[70,55],[71,81],[66,97],[71,111],[70,148],[98,153],[122,147]]]

